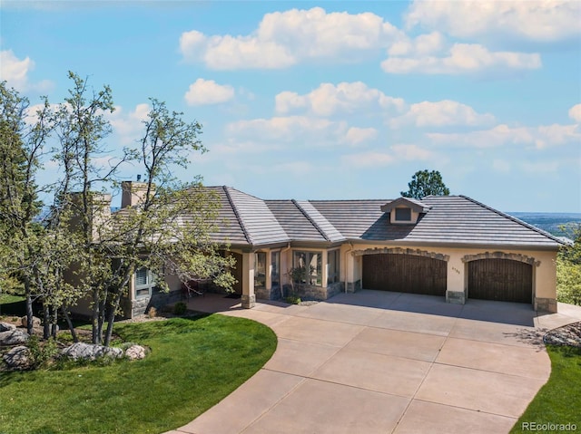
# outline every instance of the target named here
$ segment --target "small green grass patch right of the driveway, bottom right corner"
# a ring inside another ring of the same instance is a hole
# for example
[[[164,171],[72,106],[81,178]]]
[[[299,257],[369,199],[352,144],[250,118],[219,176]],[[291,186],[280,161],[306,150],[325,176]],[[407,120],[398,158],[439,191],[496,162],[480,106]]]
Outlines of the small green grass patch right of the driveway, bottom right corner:
[[[523,429],[523,422],[571,423],[581,431],[581,348],[547,345],[547,352],[551,359],[551,376],[511,433],[531,432],[530,429]],[[549,429],[542,432],[564,430]]]

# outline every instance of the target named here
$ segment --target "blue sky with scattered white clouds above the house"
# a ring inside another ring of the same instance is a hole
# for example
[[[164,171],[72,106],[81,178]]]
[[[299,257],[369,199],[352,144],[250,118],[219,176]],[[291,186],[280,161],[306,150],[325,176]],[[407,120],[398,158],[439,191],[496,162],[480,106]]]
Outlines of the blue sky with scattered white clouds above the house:
[[[112,157],[153,97],[203,125],[183,180],[397,198],[436,169],[503,211],[581,212],[581,2],[4,0],[0,20],[0,79],[32,104],[69,70],[112,87]]]

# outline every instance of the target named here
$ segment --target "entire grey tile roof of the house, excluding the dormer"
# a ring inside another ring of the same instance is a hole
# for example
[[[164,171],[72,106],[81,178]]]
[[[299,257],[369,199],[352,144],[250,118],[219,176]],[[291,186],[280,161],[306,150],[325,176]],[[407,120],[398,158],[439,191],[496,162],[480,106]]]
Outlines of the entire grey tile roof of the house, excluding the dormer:
[[[518,246],[551,248],[563,242],[537,227],[465,196],[428,196],[415,225],[389,223],[389,199],[262,200],[235,188],[213,187],[222,208],[217,241],[266,246],[289,242]]]

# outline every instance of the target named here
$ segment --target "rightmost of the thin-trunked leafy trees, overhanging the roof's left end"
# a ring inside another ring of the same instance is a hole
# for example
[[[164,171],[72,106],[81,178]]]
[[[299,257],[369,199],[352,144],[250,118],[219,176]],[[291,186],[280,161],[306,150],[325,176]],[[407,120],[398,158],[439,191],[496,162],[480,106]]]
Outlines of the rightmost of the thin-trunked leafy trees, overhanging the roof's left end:
[[[151,102],[141,146],[129,152],[130,159],[143,166],[141,200],[113,213],[108,221],[102,219],[92,254],[113,259],[112,273],[102,283],[109,299],[105,345],[111,341],[115,313],[138,269],[157,275],[164,289],[163,276],[169,274],[185,284],[194,277],[211,278],[225,288],[234,283],[227,271],[234,265],[233,258],[220,255],[220,246],[211,239],[219,201],[202,188],[199,177],[182,183],[172,175],[176,167],[188,167],[192,152],[206,150],[197,138],[202,126],[183,121],[182,113],[168,111],[161,101]]]

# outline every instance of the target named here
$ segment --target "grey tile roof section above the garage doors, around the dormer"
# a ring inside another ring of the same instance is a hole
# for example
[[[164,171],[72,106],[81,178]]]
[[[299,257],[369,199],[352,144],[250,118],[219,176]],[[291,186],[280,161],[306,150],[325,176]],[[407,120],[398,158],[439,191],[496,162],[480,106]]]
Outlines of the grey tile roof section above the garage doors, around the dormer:
[[[558,247],[562,243],[537,227],[465,196],[429,196],[429,211],[415,225],[391,225],[379,210],[387,201],[311,201],[350,239],[405,244]],[[350,224],[357,216],[356,224]]]

